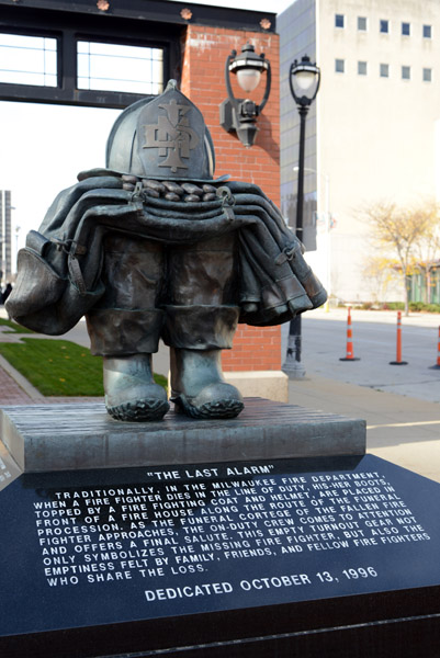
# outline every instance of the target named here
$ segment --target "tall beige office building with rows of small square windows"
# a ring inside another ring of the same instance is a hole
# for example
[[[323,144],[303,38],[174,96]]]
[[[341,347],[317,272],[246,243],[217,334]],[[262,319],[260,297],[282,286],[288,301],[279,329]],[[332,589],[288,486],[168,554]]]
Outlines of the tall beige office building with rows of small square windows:
[[[296,0],[278,26],[284,215],[294,225],[300,122],[289,69],[308,55],[321,82],[306,126],[307,260],[339,299],[370,300],[374,249],[360,212],[440,192],[440,2]]]

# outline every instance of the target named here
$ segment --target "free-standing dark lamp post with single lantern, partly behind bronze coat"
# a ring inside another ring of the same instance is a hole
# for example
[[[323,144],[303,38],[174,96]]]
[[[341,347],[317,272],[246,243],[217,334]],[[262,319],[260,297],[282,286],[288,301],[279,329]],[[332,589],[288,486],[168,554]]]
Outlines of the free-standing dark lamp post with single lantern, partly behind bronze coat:
[[[307,55],[304,55],[301,61],[295,59],[291,65],[289,84],[300,113],[300,157],[295,232],[301,241],[303,241],[305,121],[308,110],[318,93],[319,82],[320,70],[316,64],[312,64]],[[287,354],[283,364],[283,371],[292,379],[301,379],[305,375],[305,368],[301,363],[301,315],[297,315],[290,324]]]

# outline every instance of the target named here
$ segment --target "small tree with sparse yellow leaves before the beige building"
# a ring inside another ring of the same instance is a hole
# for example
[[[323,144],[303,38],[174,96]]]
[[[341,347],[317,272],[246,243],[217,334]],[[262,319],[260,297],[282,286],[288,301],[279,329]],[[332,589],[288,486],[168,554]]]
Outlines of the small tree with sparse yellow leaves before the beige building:
[[[424,206],[399,207],[394,203],[372,204],[362,215],[371,226],[371,237],[381,252],[397,259],[405,298],[405,315],[408,315],[407,280],[417,263],[416,246],[428,234],[432,217],[422,212]]]

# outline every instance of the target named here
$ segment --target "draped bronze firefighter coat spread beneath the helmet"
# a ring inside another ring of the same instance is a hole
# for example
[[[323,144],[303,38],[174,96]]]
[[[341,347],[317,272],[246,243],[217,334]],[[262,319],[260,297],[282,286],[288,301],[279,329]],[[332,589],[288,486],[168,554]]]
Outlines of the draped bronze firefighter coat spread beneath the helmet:
[[[121,174],[111,170],[78,179],[58,194],[19,252],[7,309],[30,329],[65,333],[99,300],[109,231],[174,245],[238,231],[240,322],[281,325],[326,300],[302,243],[257,185],[223,182],[215,200],[185,203],[123,190]]]

